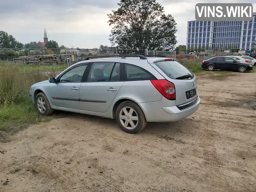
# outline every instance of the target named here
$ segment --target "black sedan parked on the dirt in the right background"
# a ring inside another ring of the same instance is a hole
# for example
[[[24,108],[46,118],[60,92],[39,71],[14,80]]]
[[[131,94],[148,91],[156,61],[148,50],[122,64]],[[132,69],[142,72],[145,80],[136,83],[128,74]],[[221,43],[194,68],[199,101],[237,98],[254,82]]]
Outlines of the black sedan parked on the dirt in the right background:
[[[202,68],[209,71],[213,70],[228,70],[228,71],[238,71],[245,72],[251,71],[253,69],[251,63],[238,62],[231,57],[213,57],[208,60],[202,61]]]

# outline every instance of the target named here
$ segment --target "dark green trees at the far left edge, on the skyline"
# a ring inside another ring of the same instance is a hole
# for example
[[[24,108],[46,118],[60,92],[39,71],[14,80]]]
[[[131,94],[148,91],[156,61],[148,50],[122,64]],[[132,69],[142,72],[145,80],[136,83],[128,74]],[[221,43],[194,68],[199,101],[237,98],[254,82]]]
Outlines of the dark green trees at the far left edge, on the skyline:
[[[18,42],[12,35],[8,35],[5,31],[0,31],[0,47],[1,48],[23,48],[23,44]]]

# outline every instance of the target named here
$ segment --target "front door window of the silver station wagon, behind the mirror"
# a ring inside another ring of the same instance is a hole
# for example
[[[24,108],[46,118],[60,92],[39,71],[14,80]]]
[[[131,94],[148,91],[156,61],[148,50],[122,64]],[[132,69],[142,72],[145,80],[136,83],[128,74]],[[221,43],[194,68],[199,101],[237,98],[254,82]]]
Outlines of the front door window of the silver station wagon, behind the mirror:
[[[87,64],[70,69],[60,77],[60,83],[81,82],[86,67]]]

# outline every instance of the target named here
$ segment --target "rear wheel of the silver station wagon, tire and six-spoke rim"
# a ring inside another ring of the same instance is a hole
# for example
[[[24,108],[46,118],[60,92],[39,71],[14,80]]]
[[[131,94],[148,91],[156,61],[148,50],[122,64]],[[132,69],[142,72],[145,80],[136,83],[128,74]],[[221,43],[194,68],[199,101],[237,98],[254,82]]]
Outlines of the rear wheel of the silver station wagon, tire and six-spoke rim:
[[[125,115],[124,109],[128,112],[128,116]],[[132,114],[130,113],[131,109],[134,110]],[[136,116],[138,120],[131,120],[132,117],[136,119]],[[124,132],[132,134],[142,131],[147,125],[147,120],[142,109],[132,101],[124,101],[117,107],[116,121]]]

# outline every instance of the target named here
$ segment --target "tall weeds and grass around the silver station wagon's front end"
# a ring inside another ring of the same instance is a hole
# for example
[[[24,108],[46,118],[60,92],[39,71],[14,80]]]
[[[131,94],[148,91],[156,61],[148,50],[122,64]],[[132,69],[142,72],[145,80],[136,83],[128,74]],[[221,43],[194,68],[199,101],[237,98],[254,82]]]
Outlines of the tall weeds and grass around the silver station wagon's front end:
[[[60,72],[36,72],[16,74],[18,72],[65,69],[65,66],[20,66],[2,62],[0,65],[0,131],[12,135],[25,129],[29,124],[49,121],[52,118],[40,116],[29,99],[28,91],[32,84],[55,77]],[[1,135],[4,137],[1,138]],[[0,133],[0,140],[5,142],[5,134]],[[8,141],[8,139],[7,139]]]

